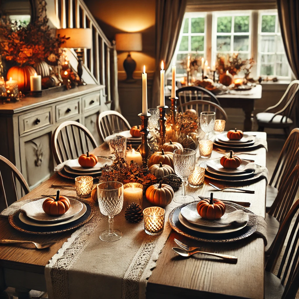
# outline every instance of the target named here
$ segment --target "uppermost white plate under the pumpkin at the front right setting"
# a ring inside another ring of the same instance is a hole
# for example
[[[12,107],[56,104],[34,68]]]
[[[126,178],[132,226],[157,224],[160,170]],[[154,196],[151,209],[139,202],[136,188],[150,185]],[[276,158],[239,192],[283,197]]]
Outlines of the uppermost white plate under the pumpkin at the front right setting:
[[[181,208],[181,214],[182,216],[189,221],[192,224],[203,226],[205,228],[224,228],[231,226],[231,224],[222,223],[223,220],[227,219],[228,214],[236,211],[237,209],[231,205],[225,205],[225,213],[224,215],[218,219],[218,220],[205,220],[202,219],[201,216],[199,216],[199,213],[197,212],[197,204],[198,202],[192,202],[190,205],[186,205],[185,207]]]

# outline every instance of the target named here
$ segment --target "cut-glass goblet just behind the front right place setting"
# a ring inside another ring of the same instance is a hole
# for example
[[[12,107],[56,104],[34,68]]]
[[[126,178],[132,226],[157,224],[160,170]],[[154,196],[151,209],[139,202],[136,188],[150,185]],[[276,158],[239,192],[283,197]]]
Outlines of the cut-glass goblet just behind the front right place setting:
[[[173,200],[178,203],[193,201],[193,196],[186,195],[185,181],[190,176],[195,167],[195,150],[193,149],[176,149],[173,152],[173,166],[176,174],[182,179],[182,195],[176,195]]]

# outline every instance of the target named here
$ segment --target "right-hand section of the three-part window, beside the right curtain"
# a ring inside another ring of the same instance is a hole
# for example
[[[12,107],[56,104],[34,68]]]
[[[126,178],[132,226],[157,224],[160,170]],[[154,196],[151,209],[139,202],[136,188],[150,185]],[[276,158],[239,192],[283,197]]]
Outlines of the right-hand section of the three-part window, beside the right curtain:
[[[260,13],[258,71],[260,76],[291,77],[277,13]]]

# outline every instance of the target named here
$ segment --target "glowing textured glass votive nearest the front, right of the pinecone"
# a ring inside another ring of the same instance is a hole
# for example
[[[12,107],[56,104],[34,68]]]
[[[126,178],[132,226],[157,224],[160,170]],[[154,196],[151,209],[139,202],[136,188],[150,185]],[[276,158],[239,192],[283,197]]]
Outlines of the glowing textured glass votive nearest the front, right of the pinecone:
[[[143,210],[144,231],[151,236],[162,234],[165,221],[165,210],[159,207],[149,207]]]

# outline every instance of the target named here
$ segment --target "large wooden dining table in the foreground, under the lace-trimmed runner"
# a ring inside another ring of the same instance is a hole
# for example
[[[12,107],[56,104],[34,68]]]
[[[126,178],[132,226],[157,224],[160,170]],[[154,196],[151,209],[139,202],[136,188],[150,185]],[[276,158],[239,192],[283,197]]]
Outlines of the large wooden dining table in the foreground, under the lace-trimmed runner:
[[[266,133],[254,132],[259,138],[266,139]],[[110,155],[106,143],[94,149],[97,155]],[[259,148],[242,158],[253,159],[256,164],[266,166],[266,149]],[[222,153],[214,151],[211,158],[221,157]],[[200,159],[197,159],[197,165]],[[266,180],[261,179],[244,183],[224,183],[213,181],[219,187],[242,187],[254,190],[255,194],[247,194],[234,190],[217,191],[205,179],[201,188],[187,186],[186,193],[193,195],[214,196],[223,200],[251,202],[249,210],[257,215],[265,216]],[[51,184],[73,183],[59,174],[36,187],[21,200],[34,199],[42,194],[53,194]],[[76,195],[74,188],[62,189],[62,194]],[[180,190],[177,192],[181,192]],[[91,198],[87,200],[91,201]],[[178,204],[179,205],[179,204]],[[124,207],[125,208],[125,207]],[[31,240],[39,243],[57,241],[54,246],[44,250],[33,249],[30,245],[0,245],[0,286],[19,290],[35,289],[46,291],[45,266],[51,257],[70,237],[72,231],[53,235],[31,235],[12,228],[7,218],[0,218],[0,239]],[[144,233],[145,235],[145,233]],[[198,246],[203,251],[234,255],[238,258],[236,264],[227,263],[221,259],[196,254],[190,258],[178,256],[172,247],[177,247],[174,238],[190,246]],[[99,240],[99,242],[101,242]],[[111,265],[116,267],[117,265]],[[82,282],[84,283],[84,282]],[[254,298],[264,297],[264,242],[256,235],[231,243],[204,243],[187,239],[172,231],[157,260],[147,283],[147,298]]]

